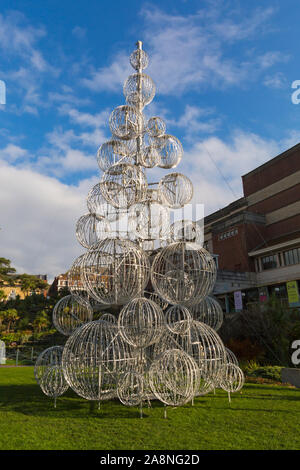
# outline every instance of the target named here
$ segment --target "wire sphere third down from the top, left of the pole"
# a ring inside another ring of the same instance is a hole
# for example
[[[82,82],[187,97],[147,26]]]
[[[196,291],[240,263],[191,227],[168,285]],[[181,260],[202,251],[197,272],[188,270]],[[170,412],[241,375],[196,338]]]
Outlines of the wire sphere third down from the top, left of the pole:
[[[118,106],[110,115],[109,127],[111,133],[119,139],[136,139],[144,132],[144,117],[134,106]]]

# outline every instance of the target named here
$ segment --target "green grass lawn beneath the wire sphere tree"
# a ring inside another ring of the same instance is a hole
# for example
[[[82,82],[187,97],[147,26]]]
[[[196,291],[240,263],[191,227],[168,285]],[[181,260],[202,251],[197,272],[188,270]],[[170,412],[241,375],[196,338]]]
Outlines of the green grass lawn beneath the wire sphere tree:
[[[155,402],[140,419],[117,401],[101,410],[68,391],[42,394],[33,367],[0,367],[0,450],[300,449],[300,390],[246,384],[242,394],[217,391],[180,408]]]

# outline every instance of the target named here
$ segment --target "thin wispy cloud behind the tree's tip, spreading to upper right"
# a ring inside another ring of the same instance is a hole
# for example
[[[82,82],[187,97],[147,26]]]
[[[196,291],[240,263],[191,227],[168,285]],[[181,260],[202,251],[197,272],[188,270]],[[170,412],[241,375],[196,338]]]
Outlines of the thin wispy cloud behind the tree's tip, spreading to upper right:
[[[153,5],[141,10],[143,40],[150,55],[146,73],[149,71],[160,93],[178,95],[199,86],[242,85],[275,63],[288,60],[278,51],[255,51],[249,58],[246,41],[266,34],[274,9],[256,9],[241,19],[232,11],[229,15],[222,3],[219,9],[205,6],[186,16],[168,14]],[[240,42],[238,55],[232,54],[235,42]],[[94,91],[116,91],[130,73],[128,52],[120,51],[110,65],[92,70],[82,81]]]

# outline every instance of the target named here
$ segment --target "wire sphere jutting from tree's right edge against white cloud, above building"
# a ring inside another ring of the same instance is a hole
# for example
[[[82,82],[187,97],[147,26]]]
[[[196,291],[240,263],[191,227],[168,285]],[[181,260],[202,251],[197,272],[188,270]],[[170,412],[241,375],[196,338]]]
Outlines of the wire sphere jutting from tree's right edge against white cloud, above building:
[[[188,204],[193,197],[191,180],[181,173],[170,173],[164,176],[158,185],[163,204],[172,209],[179,209]]]

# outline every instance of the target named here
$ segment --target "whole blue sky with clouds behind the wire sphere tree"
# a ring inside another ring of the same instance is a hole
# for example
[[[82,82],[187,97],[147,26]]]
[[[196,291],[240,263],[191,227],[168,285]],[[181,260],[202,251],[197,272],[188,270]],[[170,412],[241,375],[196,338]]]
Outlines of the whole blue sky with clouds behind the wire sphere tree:
[[[53,277],[81,254],[75,223],[99,180],[96,152],[124,103],[138,39],[157,89],[147,115],[182,141],[177,168],[206,215],[242,195],[242,174],[300,141],[296,0],[1,7],[0,244],[19,272]]]

